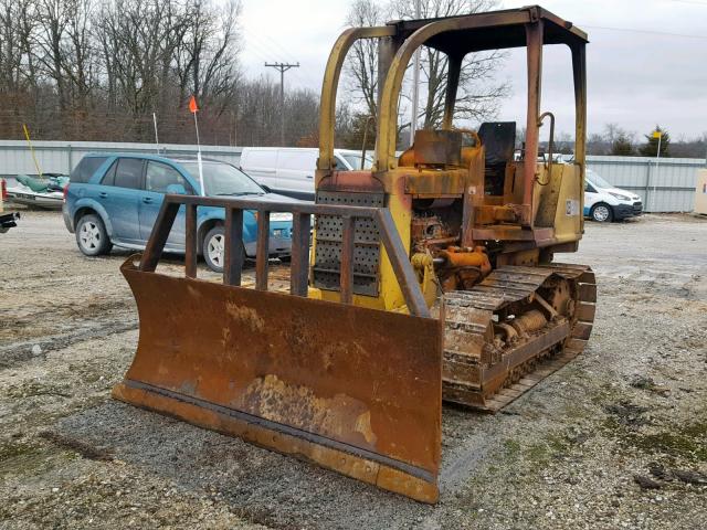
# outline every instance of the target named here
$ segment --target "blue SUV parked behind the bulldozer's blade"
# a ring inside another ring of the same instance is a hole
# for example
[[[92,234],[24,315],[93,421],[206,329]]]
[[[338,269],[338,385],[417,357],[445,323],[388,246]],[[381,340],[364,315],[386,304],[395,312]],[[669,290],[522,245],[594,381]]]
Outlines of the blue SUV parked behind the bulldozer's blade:
[[[251,200],[297,202],[271,193],[247,174],[219,160],[202,160],[207,195],[244,197]],[[110,252],[113,245],[143,250],[152,231],[165,193],[200,194],[196,159],[150,155],[86,155],[71,173],[62,208],[64,223],[76,234],[87,256]],[[199,206],[200,253],[209,268],[223,271],[225,210]],[[272,213],[270,255],[288,256],[292,248],[292,214]],[[254,257],[257,235],[255,212],[243,214],[244,256]],[[184,206],[169,234],[167,252],[184,252]]]

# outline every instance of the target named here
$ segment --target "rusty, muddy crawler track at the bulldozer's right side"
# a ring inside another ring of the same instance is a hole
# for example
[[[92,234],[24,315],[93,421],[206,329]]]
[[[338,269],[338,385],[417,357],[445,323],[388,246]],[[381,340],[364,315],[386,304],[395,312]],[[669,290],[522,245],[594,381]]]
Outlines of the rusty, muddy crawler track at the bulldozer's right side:
[[[498,340],[499,317],[531,308],[540,293],[542,299],[548,293],[562,299],[563,309],[513,343]],[[443,399],[496,412],[584,350],[597,285],[585,265],[504,266],[471,290],[446,293],[444,300]]]

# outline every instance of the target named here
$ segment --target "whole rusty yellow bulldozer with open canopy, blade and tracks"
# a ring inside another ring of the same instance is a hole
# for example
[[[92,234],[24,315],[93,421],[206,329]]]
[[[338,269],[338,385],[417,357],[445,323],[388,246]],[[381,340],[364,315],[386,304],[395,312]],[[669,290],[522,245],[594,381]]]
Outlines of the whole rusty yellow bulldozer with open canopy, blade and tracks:
[[[379,49],[374,163],[344,171],[336,95],[360,39]],[[594,274],[553,262],[583,232],[587,42],[540,7],[344,31],[324,76],[314,203],[167,195],[145,252],[122,266],[140,331],[114,398],[436,502],[443,401],[498,411],[581,353],[592,329]],[[555,115],[541,108],[548,45],[571,54],[571,161],[555,156]],[[449,60],[444,117],[397,153],[403,77],[421,46]],[[516,123],[453,126],[465,56],[514,47],[527,52],[519,150]],[[226,212],[222,283],[197,277],[199,206]],[[180,208],[184,274],[173,275],[158,264]],[[257,213],[252,285],[244,210]],[[284,288],[268,282],[273,212],[293,214]]]

